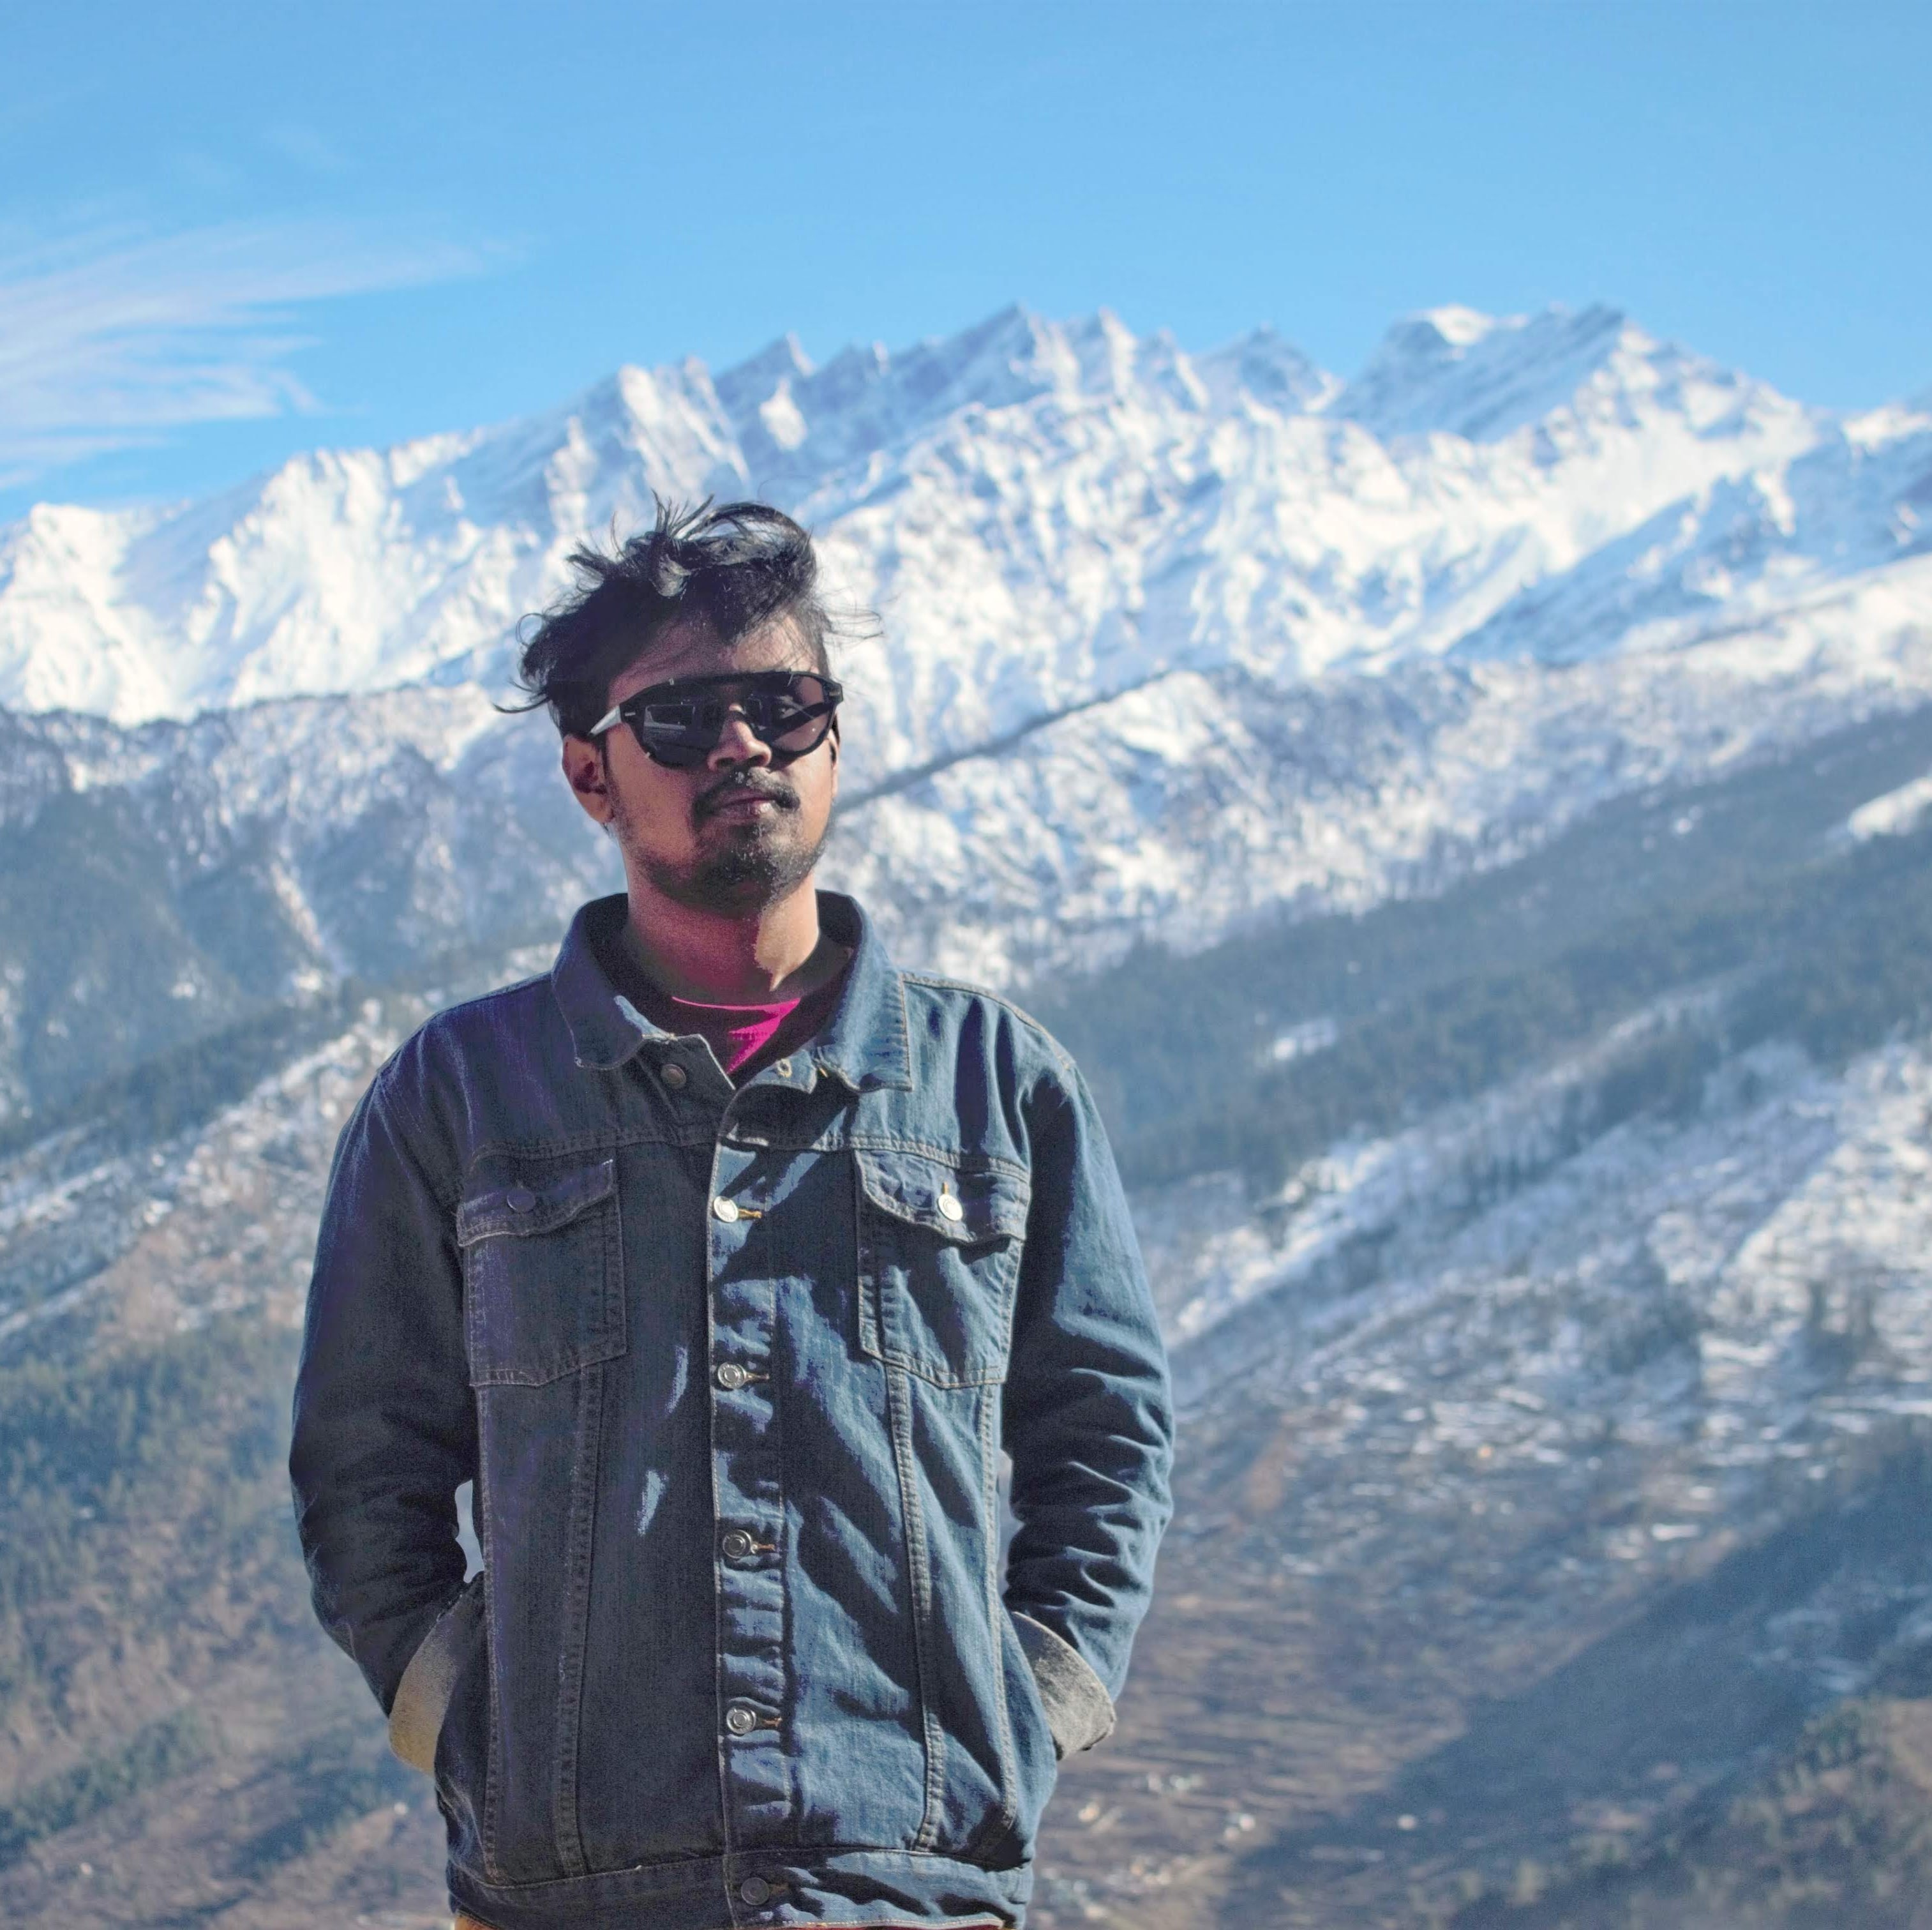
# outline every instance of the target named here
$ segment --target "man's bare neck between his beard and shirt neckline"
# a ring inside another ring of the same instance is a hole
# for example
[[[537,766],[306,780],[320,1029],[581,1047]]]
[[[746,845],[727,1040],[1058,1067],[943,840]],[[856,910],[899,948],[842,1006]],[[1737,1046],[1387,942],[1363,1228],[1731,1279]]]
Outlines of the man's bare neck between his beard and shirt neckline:
[[[769,1005],[813,993],[844,966],[844,947],[819,929],[808,879],[759,912],[736,918],[678,904],[630,881],[624,951],[653,985],[699,1005]]]

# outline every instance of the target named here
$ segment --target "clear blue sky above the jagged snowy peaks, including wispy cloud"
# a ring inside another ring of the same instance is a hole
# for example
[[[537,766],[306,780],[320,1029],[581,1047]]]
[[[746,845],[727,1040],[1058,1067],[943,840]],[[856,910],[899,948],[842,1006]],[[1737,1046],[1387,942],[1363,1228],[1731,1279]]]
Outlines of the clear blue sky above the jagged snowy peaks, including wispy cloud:
[[[1339,373],[1609,299],[1876,404],[1932,388],[1926,73],[1922,0],[15,10],[0,516],[1012,299]]]

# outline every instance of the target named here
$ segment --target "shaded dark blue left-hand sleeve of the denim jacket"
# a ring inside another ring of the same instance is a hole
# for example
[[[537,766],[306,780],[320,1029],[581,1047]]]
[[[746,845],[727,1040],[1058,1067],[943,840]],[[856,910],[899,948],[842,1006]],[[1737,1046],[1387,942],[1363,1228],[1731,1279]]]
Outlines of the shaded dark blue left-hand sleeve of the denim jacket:
[[[456,1490],[475,1472],[454,1200],[404,1130],[398,1064],[336,1146],[290,1449],[315,1611],[384,1714],[462,1590]]]

